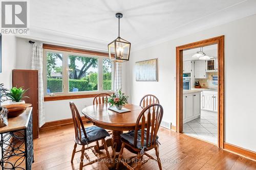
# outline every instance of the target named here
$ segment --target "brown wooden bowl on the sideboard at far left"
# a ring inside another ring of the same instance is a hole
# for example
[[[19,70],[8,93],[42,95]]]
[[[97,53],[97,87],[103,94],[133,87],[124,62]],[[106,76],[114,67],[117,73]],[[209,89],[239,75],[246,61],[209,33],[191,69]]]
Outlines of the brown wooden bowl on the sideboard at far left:
[[[11,105],[5,105],[4,107],[7,108],[8,114],[7,117],[16,117],[20,114],[22,114],[27,107],[31,107],[32,105],[29,103],[26,104],[11,104]]]

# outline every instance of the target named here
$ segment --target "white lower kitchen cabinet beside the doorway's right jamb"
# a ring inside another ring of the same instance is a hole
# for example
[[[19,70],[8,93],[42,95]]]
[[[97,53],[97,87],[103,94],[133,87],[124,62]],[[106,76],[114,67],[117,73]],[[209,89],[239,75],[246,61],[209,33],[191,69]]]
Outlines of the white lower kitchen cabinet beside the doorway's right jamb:
[[[218,112],[218,92],[202,91],[201,103],[202,110]]]

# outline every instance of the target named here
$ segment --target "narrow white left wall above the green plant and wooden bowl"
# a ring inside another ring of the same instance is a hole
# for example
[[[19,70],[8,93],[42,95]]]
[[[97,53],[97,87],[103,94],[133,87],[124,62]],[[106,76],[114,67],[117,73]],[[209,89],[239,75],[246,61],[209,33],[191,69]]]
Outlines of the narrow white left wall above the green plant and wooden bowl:
[[[4,83],[5,88],[9,89],[12,87],[12,69],[15,68],[15,64],[16,37],[2,35],[2,72],[0,73],[0,83]]]

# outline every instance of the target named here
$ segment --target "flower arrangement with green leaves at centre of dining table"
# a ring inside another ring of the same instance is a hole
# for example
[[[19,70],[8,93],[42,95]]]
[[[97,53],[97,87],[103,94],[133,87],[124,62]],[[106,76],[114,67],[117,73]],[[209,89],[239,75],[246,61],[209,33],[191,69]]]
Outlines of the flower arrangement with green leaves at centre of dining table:
[[[129,97],[127,95],[124,95],[121,90],[117,91],[117,94],[112,94],[107,100],[108,103],[110,103],[111,106],[116,106],[118,110],[121,110],[122,107],[127,104],[127,99]]]

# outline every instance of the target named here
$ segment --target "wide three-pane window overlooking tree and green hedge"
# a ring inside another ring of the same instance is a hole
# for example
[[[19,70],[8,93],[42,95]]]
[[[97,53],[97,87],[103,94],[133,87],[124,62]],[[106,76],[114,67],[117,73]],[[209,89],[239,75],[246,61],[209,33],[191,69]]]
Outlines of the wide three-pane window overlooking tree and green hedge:
[[[113,62],[102,55],[44,48],[46,95],[98,93],[113,89]]]

